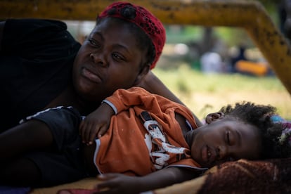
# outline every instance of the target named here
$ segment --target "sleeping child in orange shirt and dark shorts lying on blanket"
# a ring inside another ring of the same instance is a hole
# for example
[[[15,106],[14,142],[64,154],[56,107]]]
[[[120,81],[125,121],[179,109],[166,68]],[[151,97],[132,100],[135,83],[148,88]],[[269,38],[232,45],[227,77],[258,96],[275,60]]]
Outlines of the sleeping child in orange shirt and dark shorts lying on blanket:
[[[87,117],[72,107],[51,108],[0,134],[0,179],[46,187],[101,174],[106,181],[98,189],[110,192],[162,188],[226,161],[289,157],[290,128],[273,122],[275,113],[237,103],[197,127],[179,103],[139,87],[118,89]]]

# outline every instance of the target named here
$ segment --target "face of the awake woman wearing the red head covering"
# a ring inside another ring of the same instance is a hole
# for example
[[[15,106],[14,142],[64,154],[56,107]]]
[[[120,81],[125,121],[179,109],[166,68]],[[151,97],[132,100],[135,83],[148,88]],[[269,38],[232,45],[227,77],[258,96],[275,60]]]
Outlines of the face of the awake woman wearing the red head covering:
[[[141,79],[146,51],[137,45],[122,22],[105,18],[96,25],[75,58],[72,80],[79,96],[99,103],[116,89],[127,89]]]

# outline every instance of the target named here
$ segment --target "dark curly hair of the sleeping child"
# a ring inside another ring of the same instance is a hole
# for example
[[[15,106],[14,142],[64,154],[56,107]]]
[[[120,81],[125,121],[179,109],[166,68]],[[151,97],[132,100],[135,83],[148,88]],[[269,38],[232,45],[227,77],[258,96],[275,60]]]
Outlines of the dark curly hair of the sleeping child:
[[[290,133],[283,133],[281,123],[272,122],[276,108],[271,105],[255,105],[250,102],[226,105],[220,112],[228,117],[235,117],[243,122],[254,125],[261,133],[261,159],[281,158],[291,156]],[[284,137],[284,138],[283,138]]]

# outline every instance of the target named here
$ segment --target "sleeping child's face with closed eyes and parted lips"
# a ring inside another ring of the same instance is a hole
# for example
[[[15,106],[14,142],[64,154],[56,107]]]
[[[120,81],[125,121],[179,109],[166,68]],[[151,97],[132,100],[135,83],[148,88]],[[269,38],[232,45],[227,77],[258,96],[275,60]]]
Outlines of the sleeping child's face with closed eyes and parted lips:
[[[241,158],[255,160],[261,150],[256,127],[224,117],[193,131],[191,155],[202,167]]]

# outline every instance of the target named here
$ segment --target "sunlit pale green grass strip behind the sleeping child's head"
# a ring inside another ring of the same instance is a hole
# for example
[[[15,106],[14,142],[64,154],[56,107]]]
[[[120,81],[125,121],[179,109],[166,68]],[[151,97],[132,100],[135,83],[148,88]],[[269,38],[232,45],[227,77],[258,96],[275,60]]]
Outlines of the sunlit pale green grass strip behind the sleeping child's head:
[[[242,101],[273,105],[281,116],[291,119],[291,96],[276,77],[204,75],[188,65],[175,70],[156,68],[153,72],[200,119],[224,105]]]

